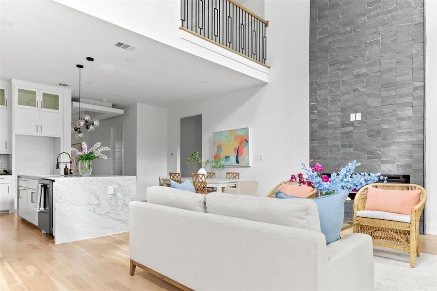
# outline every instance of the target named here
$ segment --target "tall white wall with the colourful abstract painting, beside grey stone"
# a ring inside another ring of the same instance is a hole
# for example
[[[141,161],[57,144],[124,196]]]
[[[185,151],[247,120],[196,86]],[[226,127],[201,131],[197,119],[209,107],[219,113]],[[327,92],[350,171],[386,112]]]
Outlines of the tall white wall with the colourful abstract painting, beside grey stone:
[[[309,0],[267,1],[270,83],[169,109],[168,171],[180,169],[180,118],[202,114],[203,158],[212,156],[212,132],[251,128],[251,167],[241,178],[259,178],[259,195],[300,170],[309,159]],[[284,35],[287,32],[287,35]],[[171,154],[173,153],[173,156]],[[262,154],[263,161],[254,161]]]

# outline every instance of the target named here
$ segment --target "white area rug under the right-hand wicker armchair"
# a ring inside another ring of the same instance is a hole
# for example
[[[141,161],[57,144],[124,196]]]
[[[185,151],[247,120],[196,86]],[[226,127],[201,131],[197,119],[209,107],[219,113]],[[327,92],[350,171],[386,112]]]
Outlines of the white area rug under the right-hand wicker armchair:
[[[416,267],[410,268],[407,252],[375,246],[373,255],[375,290],[437,290],[437,256],[421,253],[416,258]]]

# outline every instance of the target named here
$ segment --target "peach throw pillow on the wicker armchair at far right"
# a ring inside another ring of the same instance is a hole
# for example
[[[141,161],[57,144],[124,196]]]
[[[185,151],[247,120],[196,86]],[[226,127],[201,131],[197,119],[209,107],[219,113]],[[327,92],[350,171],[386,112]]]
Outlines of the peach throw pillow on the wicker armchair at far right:
[[[399,214],[411,214],[419,203],[421,190],[385,190],[369,187],[366,210],[377,210]]]

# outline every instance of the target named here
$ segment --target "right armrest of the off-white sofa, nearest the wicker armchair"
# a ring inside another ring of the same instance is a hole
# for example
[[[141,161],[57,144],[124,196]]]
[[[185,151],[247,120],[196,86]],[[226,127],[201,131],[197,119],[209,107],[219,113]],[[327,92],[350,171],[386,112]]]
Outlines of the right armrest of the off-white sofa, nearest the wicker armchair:
[[[352,233],[327,245],[328,286],[333,290],[373,290],[373,243],[367,234]]]

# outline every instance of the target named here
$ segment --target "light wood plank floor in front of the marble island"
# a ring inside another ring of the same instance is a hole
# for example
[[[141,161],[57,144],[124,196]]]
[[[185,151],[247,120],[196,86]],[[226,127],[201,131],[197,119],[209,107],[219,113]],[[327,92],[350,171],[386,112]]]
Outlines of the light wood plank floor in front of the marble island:
[[[423,253],[437,254],[437,236],[421,242]],[[55,245],[15,214],[0,214],[0,290],[179,289],[139,268],[129,275],[127,232]]]

